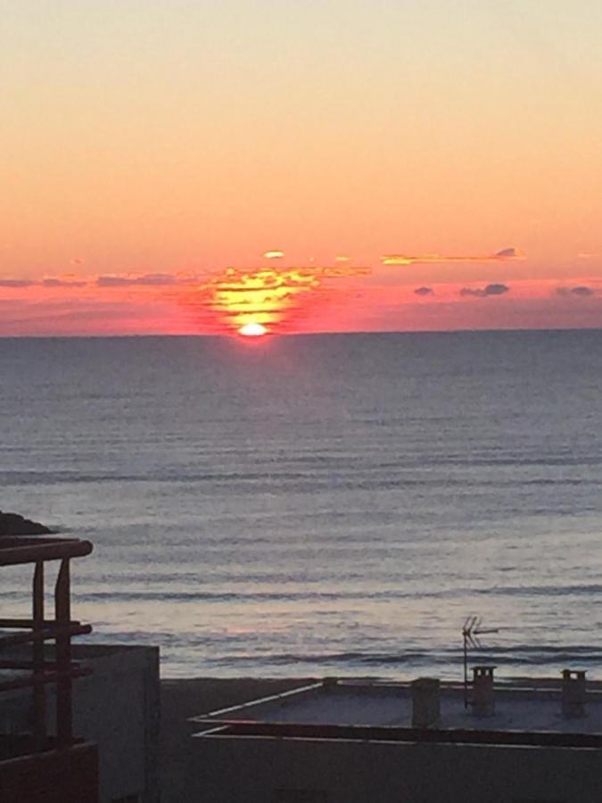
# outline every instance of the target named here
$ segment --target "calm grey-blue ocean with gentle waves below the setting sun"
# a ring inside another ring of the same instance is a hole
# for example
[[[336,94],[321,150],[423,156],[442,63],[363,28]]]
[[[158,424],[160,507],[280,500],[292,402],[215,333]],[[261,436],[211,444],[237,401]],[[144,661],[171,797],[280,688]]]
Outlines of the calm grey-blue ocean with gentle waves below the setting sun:
[[[475,615],[471,663],[602,678],[601,402],[602,331],[0,339],[0,509],[167,677],[459,680]]]

